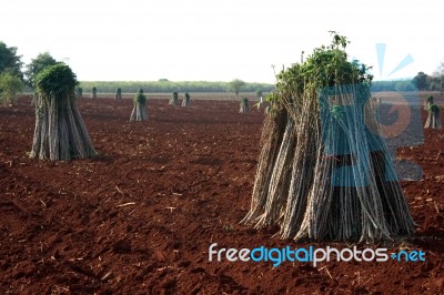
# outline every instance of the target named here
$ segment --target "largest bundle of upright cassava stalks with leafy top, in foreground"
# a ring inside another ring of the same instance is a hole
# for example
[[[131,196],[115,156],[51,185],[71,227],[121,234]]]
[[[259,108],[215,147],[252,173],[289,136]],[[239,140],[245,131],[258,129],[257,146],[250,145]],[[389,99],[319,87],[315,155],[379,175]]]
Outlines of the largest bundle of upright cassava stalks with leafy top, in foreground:
[[[345,37],[276,78],[251,207],[242,221],[282,238],[374,242],[414,223],[380,136],[372,75]]]

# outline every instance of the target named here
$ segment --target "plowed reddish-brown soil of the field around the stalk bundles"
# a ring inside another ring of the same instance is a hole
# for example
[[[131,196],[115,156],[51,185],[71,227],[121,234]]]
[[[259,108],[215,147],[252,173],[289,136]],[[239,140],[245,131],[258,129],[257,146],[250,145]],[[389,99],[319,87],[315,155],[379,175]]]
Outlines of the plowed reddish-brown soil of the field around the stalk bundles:
[[[148,104],[149,120],[130,123],[131,100],[80,100],[100,156],[71,162],[28,157],[30,98],[0,108],[1,294],[444,293],[444,131],[426,130],[423,146],[400,151],[424,170],[422,181],[402,183],[416,235],[359,245],[422,250],[426,262],[219,263],[208,260],[212,243],[344,245],[282,241],[276,228],[240,224],[263,110],[239,114],[238,102],[210,100]]]

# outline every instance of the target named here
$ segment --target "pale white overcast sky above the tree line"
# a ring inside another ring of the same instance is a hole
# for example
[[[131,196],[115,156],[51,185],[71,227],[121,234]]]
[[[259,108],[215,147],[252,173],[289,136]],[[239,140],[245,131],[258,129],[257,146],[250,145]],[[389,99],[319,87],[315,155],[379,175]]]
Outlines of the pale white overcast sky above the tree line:
[[[386,80],[444,61],[442,16],[437,0],[2,0],[0,40],[24,63],[48,51],[80,81],[274,83],[336,31]]]

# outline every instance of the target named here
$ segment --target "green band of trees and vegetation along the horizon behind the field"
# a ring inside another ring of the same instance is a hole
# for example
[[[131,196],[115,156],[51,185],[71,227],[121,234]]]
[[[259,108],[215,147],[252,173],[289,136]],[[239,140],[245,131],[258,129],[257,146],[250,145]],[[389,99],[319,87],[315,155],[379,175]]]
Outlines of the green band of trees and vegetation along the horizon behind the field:
[[[34,90],[34,78],[48,65],[62,63],[51,57],[49,52],[39,53],[29,64],[21,61],[16,47],[8,47],[0,41],[0,101],[13,103],[14,98],[21,91]],[[151,93],[171,92],[231,92],[239,96],[240,88],[243,92],[272,92],[274,84],[249,83],[239,79],[230,82],[223,81],[80,81],[79,88],[84,92],[91,92],[95,88],[99,93],[113,93],[118,88],[124,93],[137,93],[139,89],[145,89]],[[412,91],[412,90],[444,89],[444,63],[431,75],[418,72],[413,79],[394,81],[373,81],[372,91]]]

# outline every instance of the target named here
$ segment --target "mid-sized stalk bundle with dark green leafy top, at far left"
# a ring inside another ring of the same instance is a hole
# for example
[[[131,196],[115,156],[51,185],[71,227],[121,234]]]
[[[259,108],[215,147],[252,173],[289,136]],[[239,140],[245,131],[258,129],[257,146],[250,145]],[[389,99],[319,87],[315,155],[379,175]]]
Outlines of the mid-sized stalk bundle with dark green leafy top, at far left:
[[[63,63],[44,68],[36,78],[36,130],[30,157],[73,160],[95,156],[75,104],[78,81]]]

